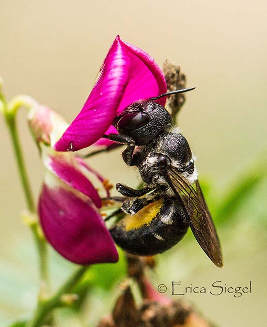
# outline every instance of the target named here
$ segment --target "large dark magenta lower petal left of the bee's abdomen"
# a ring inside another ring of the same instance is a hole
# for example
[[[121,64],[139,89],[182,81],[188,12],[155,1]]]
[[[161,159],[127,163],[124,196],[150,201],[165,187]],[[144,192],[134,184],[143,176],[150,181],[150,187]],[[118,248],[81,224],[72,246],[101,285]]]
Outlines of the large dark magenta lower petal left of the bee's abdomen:
[[[90,199],[62,187],[43,185],[39,216],[48,242],[64,258],[79,264],[117,262],[110,232]]]

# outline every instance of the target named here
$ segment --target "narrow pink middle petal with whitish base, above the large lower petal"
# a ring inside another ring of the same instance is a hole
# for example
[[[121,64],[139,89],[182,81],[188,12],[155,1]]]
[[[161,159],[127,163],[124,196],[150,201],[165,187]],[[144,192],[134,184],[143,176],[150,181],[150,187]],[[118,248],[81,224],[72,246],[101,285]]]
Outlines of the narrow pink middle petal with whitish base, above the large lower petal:
[[[72,158],[73,163],[70,163],[64,158],[64,155],[66,153],[50,155],[48,161],[45,162],[47,169],[70,187],[90,197],[94,201],[95,206],[101,208],[101,199],[93,184],[75,167],[76,159]]]

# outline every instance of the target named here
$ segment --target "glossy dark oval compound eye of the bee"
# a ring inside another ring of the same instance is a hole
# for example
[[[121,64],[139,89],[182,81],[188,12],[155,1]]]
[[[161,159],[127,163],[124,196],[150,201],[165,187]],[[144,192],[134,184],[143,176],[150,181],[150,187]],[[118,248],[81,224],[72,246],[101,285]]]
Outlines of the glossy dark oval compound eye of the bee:
[[[123,115],[117,122],[118,130],[137,130],[149,122],[149,115],[146,113],[128,113]]]

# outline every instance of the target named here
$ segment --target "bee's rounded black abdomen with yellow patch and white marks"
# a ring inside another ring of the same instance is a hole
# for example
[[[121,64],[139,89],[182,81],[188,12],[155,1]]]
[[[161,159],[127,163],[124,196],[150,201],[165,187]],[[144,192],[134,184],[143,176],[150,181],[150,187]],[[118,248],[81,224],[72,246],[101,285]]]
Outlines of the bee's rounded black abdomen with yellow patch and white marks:
[[[126,215],[110,229],[117,245],[141,256],[164,252],[177,244],[188,229],[181,208],[172,199],[160,199],[133,216]]]

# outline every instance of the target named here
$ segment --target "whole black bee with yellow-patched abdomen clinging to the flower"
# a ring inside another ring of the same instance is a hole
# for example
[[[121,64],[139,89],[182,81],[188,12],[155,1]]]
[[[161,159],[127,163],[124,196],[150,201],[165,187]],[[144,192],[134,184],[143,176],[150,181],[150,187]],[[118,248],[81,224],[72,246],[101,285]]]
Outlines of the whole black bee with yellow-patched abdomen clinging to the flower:
[[[190,227],[207,256],[221,267],[219,239],[197,179],[192,152],[179,128],[173,127],[169,112],[155,101],[191,89],[132,103],[113,122],[118,134],[104,135],[127,145],[123,160],[137,166],[145,183],[140,190],[116,185],[117,191],[126,196],[121,207],[126,215],[110,232],[127,252],[143,256],[168,250]]]

